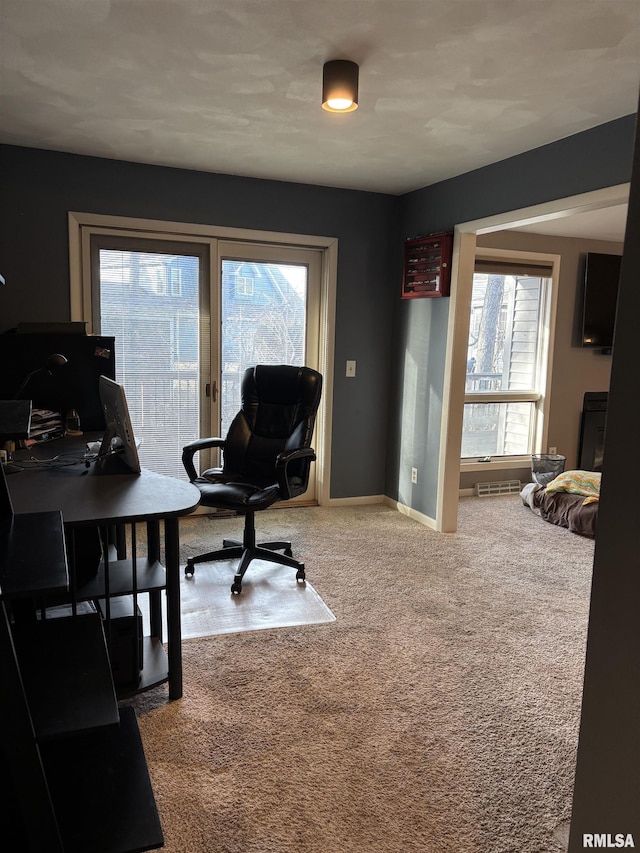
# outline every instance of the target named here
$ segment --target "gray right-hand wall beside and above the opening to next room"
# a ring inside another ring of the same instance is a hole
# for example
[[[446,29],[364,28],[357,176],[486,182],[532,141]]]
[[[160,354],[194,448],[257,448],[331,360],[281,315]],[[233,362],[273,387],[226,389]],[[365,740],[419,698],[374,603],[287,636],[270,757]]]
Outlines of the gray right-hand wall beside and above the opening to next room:
[[[631,178],[634,127],[635,116],[626,116],[409,193],[402,199],[399,242],[410,236],[452,231],[458,223],[626,183]],[[446,298],[397,299],[392,338],[385,494],[432,518],[437,506],[448,309]],[[407,400],[416,401],[411,422]],[[412,465],[424,471],[417,485],[407,484],[407,468]]]

